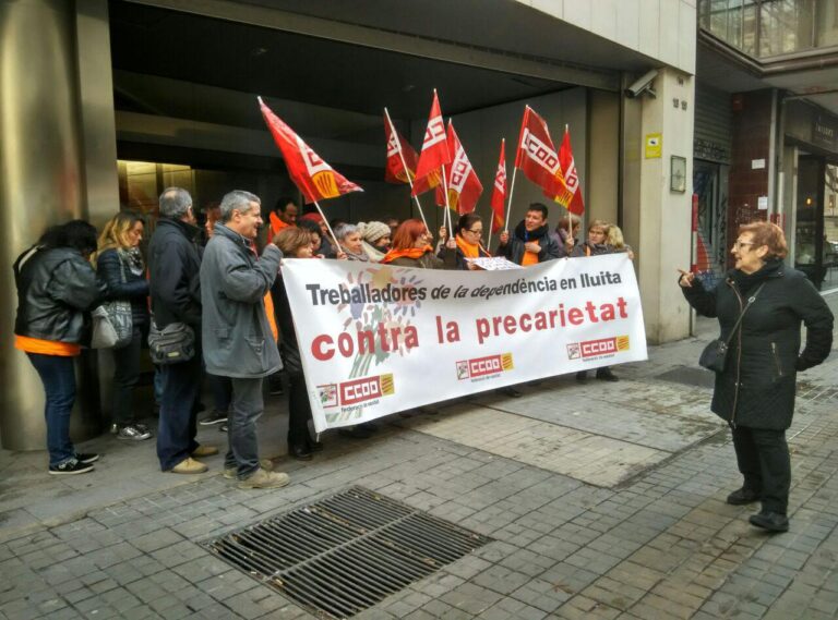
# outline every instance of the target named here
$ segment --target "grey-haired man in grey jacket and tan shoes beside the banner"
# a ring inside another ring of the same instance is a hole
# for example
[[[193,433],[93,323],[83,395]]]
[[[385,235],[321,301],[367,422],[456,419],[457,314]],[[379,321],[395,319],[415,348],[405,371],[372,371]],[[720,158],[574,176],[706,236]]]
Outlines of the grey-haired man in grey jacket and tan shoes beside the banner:
[[[263,300],[283,253],[268,243],[261,257],[255,254],[258,196],[230,192],[220,211],[201,263],[201,302],[206,372],[232,381],[225,474],[235,472],[239,488],[277,488],[288,484],[288,475],[260,466],[256,420],[264,410],[262,379],[282,367]]]

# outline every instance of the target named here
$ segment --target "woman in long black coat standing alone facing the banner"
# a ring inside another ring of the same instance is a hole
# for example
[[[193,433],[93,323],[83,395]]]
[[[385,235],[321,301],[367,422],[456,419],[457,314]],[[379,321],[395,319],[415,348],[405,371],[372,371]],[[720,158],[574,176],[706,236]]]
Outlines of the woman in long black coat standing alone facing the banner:
[[[740,327],[730,338],[725,370],[716,375],[713,411],[733,433],[742,488],[728,503],[762,501],[750,519],[770,532],[787,532],[791,465],[786,429],[794,413],[797,373],[823,362],[833,343],[833,313],[800,271],[782,264],[788,250],[782,230],[769,222],[740,227],[731,253],[734,268],[707,291],[692,273],[679,284],[698,314],[717,317],[720,338],[731,331],[750,299]],[[800,325],[806,347],[800,352]]]

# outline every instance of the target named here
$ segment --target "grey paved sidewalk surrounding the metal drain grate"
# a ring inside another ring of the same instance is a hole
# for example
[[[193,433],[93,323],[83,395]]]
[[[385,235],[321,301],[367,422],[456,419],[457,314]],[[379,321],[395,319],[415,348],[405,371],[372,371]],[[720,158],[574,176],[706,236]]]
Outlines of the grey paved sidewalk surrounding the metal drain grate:
[[[313,618],[199,543],[351,485],[492,538],[357,618],[835,618],[838,354],[799,376],[791,531],[768,536],[725,503],[741,479],[695,368],[714,335],[651,348],[618,384],[556,377],[327,435],[306,464],[280,457],[270,401],[263,453],[292,481],[276,491],[237,489],[220,457],[163,474],[152,442],[98,438],[80,447],[96,472],[59,479],[44,453],[0,453],[0,618]]]

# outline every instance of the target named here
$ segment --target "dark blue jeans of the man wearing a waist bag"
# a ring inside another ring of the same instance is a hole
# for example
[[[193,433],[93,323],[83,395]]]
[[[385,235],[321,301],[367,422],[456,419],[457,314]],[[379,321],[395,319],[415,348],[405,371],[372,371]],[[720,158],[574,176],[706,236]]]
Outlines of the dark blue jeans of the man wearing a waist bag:
[[[168,472],[197,448],[197,394],[201,388],[201,351],[188,362],[159,366],[163,376],[157,458]]]

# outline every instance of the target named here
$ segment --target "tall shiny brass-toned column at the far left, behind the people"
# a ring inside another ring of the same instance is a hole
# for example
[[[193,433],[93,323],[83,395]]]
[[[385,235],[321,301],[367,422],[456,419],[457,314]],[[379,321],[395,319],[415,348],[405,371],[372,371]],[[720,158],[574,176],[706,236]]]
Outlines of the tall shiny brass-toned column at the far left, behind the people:
[[[108,29],[106,0],[0,0],[0,440],[12,450],[46,437],[44,389],[13,348],[12,264],[48,226],[119,208]],[[99,429],[88,362],[76,440]]]

